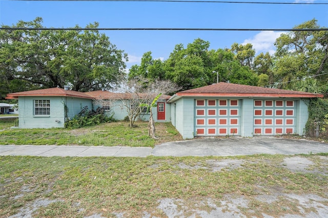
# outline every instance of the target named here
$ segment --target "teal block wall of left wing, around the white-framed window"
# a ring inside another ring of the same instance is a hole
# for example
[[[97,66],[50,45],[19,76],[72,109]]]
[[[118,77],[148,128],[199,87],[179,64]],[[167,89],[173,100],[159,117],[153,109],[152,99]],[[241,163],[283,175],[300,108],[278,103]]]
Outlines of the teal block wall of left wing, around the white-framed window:
[[[34,115],[34,100],[50,100],[50,115]],[[57,96],[27,96],[18,97],[19,128],[63,128],[65,124],[65,107],[68,117],[74,117],[81,111],[81,106],[92,108],[91,99],[57,97]]]

